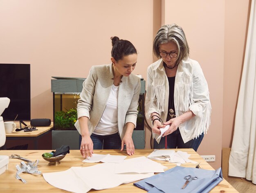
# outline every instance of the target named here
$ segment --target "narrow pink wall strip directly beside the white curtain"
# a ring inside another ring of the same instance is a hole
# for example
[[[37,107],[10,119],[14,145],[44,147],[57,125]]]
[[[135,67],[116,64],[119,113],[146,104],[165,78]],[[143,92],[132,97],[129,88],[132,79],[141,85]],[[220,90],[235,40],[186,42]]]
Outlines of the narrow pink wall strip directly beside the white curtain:
[[[251,0],[225,1],[222,147],[231,147]]]

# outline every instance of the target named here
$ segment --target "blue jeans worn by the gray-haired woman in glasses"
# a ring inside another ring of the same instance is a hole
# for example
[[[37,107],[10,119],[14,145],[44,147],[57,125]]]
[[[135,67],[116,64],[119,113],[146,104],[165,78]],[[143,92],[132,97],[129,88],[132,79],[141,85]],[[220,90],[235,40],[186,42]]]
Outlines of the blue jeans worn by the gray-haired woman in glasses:
[[[193,148],[195,151],[198,150],[204,134],[201,134],[198,138],[191,139],[187,143],[184,143],[180,134],[180,129],[178,128],[175,132],[169,134],[168,136],[162,137],[159,144],[154,139],[154,149],[164,149],[165,148],[165,138],[167,137],[167,149],[176,148]]]

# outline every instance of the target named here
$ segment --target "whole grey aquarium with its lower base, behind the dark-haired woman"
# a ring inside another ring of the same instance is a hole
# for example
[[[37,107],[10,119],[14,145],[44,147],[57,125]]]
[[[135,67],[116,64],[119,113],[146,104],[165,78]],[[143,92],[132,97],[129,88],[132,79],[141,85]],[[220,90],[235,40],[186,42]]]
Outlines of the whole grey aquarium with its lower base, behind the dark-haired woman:
[[[70,149],[80,149],[79,133],[74,127],[77,120],[76,106],[83,89],[85,78],[52,77],[51,91],[53,93],[53,119],[52,149],[68,145]],[[144,149],[144,96],[145,81],[141,79],[141,92],[137,116],[137,127],[132,133],[135,149]]]

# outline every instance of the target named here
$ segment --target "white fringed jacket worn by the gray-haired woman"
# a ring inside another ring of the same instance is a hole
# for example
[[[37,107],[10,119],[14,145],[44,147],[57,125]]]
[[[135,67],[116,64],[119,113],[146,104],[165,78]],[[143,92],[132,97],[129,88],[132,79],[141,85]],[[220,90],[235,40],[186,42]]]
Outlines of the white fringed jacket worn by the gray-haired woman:
[[[162,59],[148,66],[147,94],[145,99],[146,118],[157,112],[163,121],[167,118],[169,83]],[[207,81],[197,61],[181,61],[177,68],[174,86],[175,114],[180,116],[191,110],[196,116],[179,126],[184,143],[209,129],[211,103]],[[153,125],[151,125],[153,126]],[[153,138],[158,135],[153,133]],[[158,140],[159,143],[160,139]]]

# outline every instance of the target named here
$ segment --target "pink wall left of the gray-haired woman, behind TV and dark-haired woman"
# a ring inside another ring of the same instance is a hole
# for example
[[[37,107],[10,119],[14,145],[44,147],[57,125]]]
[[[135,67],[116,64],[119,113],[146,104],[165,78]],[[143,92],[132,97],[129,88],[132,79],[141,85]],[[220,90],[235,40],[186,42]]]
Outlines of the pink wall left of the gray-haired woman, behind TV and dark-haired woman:
[[[137,48],[135,74],[153,60],[153,0],[1,0],[0,18],[0,62],[31,64],[31,118],[53,118],[52,76],[111,62],[111,36]]]

